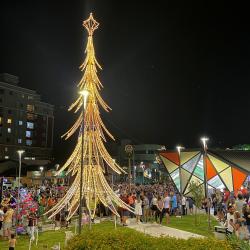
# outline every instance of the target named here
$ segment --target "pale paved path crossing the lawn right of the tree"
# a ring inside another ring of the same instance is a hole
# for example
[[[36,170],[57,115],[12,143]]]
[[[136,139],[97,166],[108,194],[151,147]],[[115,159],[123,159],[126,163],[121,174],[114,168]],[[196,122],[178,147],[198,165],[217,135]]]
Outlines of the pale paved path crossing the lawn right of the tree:
[[[128,227],[133,228],[139,232],[150,234],[151,236],[160,237],[160,236],[170,236],[179,239],[188,239],[188,238],[205,238],[202,235],[190,233],[187,231],[162,226],[155,223],[140,223],[137,224],[135,219],[130,219]]]

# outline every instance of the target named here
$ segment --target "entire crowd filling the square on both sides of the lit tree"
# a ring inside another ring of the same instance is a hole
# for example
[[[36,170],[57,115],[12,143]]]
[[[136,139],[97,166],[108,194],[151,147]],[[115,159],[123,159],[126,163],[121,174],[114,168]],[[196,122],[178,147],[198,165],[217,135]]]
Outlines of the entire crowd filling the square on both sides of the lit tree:
[[[112,189],[134,211],[117,208],[123,226],[128,225],[128,218],[135,218],[138,224],[148,222],[162,224],[163,220],[169,224],[171,216],[193,214],[194,199],[180,195],[171,182],[152,185],[119,183],[113,185]],[[25,229],[25,233],[34,239],[38,221],[41,221],[43,214],[65,195],[68,187],[44,183],[36,187],[24,186],[21,190],[21,204],[17,204],[17,188],[3,191],[0,204],[0,237],[9,239],[12,245],[15,242],[15,237],[12,236],[13,229],[19,233]],[[228,234],[236,234],[242,239],[248,237],[250,199],[247,189],[243,189],[237,195],[226,189],[214,190],[209,198],[204,198],[200,209],[204,209],[207,213],[213,212],[218,221],[227,228]],[[108,208],[101,203],[98,204],[97,215],[112,216]],[[67,227],[66,217],[66,209],[58,213],[54,218],[55,227]]]

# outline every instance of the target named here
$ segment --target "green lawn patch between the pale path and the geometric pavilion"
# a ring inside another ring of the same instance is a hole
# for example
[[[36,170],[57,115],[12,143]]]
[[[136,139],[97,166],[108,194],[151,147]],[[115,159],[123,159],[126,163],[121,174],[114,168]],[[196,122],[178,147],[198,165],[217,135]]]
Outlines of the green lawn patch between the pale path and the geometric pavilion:
[[[199,222],[200,216],[200,222]],[[166,224],[166,218],[163,218],[162,225],[188,231],[191,233],[200,234],[207,237],[213,237],[214,226],[218,226],[218,222],[211,216],[211,229],[208,230],[207,215],[200,214],[198,217],[198,223],[194,223],[194,215],[185,215],[182,218],[176,218],[175,216],[170,217],[170,223]]]

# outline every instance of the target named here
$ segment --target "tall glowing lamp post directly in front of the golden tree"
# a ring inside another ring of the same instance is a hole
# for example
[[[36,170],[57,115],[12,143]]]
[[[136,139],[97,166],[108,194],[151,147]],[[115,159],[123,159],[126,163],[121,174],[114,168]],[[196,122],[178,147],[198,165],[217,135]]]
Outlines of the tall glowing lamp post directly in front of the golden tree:
[[[80,171],[80,199],[79,199],[79,218],[78,218],[78,233],[81,234],[82,231],[82,187],[83,187],[83,183],[82,183],[82,175],[83,175],[83,147],[84,147],[84,111],[86,109],[87,106],[87,100],[88,100],[88,96],[89,96],[89,92],[88,90],[82,90],[79,93],[82,96],[82,151],[81,151],[81,171]],[[90,211],[89,211],[89,221],[91,223],[90,220]]]

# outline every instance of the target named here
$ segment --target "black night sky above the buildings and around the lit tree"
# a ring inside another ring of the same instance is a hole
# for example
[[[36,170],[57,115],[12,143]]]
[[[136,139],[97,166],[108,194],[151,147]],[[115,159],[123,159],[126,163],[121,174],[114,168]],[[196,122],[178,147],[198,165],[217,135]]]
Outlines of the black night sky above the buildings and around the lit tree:
[[[113,109],[102,117],[118,141],[250,143],[249,10],[212,2],[4,1],[0,72],[55,105],[55,154],[66,158],[76,141],[60,135],[75,118],[67,107],[81,78],[82,21],[93,12],[101,94]]]

